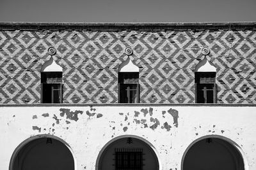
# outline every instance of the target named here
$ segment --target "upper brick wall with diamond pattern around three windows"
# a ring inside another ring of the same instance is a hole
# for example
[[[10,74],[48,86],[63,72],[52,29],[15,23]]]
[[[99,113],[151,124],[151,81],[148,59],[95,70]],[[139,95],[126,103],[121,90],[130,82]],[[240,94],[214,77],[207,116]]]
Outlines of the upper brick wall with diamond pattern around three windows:
[[[0,103],[40,103],[40,69],[54,59],[63,67],[63,103],[117,103],[118,66],[140,67],[140,103],[195,103],[194,69],[209,46],[217,68],[218,103],[256,103],[256,32],[215,31],[0,31]]]

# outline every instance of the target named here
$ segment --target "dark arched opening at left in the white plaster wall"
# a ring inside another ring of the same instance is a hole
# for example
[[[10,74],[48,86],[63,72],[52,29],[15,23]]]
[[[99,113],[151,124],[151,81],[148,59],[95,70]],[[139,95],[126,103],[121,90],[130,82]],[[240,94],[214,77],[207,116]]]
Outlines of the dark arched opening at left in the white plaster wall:
[[[22,143],[13,153],[10,170],[75,170],[70,149],[49,136]]]

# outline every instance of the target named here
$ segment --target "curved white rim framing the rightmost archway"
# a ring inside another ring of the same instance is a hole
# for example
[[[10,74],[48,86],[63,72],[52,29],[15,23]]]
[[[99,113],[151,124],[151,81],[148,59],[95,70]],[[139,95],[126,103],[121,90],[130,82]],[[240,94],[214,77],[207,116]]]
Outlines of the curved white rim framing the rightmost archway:
[[[237,145],[237,143],[235,143],[234,141],[232,141],[231,139],[225,137],[225,136],[220,136],[220,135],[216,135],[216,134],[212,134],[212,135],[206,135],[206,136],[202,136],[200,138],[195,139],[192,143],[190,143],[188,145],[188,147],[186,148],[185,152],[182,155],[182,160],[181,160],[181,167],[180,170],[183,170],[183,164],[184,164],[184,159],[186,157],[186,154],[188,153],[189,149],[191,148],[191,146],[195,145],[195,143],[197,143],[198,141],[201,141],[202,139],[207,139],[207,138],[218,138],[218,139],[222,139],[223,141],[227,141],[228,143],[230,143],[230,145],[234,146],[234,148],[236,148],[237,152],[241,155],[243,162],[244,162],[244,170],[249,170],[249,166],[248,166],[248,161],[246,160],[246,155],[244,154],[243,150],[240,148],[239,145]]]

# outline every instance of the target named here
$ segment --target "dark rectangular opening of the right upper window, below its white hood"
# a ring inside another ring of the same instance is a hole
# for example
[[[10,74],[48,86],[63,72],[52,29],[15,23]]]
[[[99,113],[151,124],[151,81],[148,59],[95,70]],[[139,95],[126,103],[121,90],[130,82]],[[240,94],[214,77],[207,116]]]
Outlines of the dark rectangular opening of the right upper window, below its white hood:
[[[195,73],[196,103],[216,103],[215,72]]]

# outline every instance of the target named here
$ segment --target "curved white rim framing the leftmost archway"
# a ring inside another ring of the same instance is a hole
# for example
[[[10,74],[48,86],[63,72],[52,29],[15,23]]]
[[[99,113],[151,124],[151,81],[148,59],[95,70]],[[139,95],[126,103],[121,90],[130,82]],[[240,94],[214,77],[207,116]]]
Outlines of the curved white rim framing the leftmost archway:
[[[74,170],[77,170],[77,161],[76,161],[76,157],[75,157],[75,153],[73,152],[72,148],[68,145],[68,143],[66,141],[64,141],[63,139],[57,137],[57,136],[53,136],[51,134],[38,134],[36,136],[31,136],[30,138],[22,141],[22,143],[20,143],[20,145],[18,145],[15,150],[12,153],[12,157],[10,159],[10,164],[9,164],[9,170],[14,170],[13,169],[13,164],[15,161],[15,158],[17,156],[17,154],[20,152],[20,150],[29,142],[35,140],[35,139],[39,139],[39,138],[52,138],[52,139],[56,139],[57,141],[60,141],[61,143],[63,143],[65,146],[67,146],[68,150],[70,151],[70,153],[72,154],[72,157],[74,159]]]

